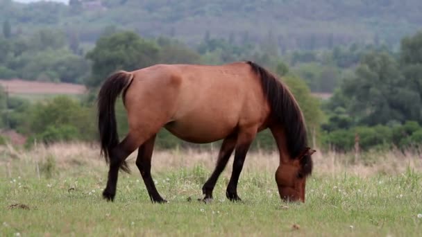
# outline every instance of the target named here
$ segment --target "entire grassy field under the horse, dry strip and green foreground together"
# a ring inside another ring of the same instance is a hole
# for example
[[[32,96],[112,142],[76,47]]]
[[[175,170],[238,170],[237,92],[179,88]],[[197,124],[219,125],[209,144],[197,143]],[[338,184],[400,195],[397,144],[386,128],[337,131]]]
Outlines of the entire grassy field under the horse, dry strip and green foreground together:
[[[151,204],[133,154],[133,173],[121,173],[115,202],[105,202],[107,167],[98,153],[96,146],[83,144],[31,152],[1,148],[0,236],[420,236],[422,231],[422,160],[412,153],[373,153],[356,161],[318,153],[305,204],[280,201],[273,177],[278,156],[262,152],[246,158],[238,188],[242,202],[224,195],[231,164],[214,201],[198,202],[217,150],[155,152],[153,177],[167,204]]]

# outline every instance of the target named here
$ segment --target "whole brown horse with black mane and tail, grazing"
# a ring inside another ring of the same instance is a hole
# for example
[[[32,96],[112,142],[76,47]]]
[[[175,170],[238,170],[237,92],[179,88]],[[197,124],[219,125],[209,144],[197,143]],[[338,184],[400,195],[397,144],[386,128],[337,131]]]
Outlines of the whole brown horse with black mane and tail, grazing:
[[[129,132],[119,143],[115,100],[123,91]],[[114,200],[119,168],[128,172],[126,157],[136,159],[152,202],[166,202],[151,177],[155,135],[164,127],[193,143],[223,139],[217,166],[203,185],[204,200],[235,151],[226,196],[240,200],[237,181],[255,135],[269,128],[280,152],[276,182],[280,198],[305,202],[305,179],[312,172],[303,114],[289,89],[253,62],[221,66],[159,64],[137,71],[119,71],[99,91],[101,152],[110,163],[103,197]]]

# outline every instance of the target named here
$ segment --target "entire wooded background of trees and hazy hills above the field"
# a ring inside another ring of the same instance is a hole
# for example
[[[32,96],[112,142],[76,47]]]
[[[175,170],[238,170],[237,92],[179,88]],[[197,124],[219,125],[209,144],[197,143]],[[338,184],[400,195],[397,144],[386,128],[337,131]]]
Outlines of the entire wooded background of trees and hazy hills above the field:
[[[77,100],[33,102],[3,90],[3,130],[24,134],[27,147],[96,141],[96,93],[113,71],[252,60],[289,86],[310,142],[321,148],[353,150],[357,137],[362,150],[422,143],[417,1],[168,2],[0,1],[0,78],[78,83],[90,91]],[[315,96],[321,93],[328,98]],[[126,115],[117,104],[123,135]],[[193,145],[163,130],[158,146]],[[274,148],[271,135],[260,134],[254,148]]]

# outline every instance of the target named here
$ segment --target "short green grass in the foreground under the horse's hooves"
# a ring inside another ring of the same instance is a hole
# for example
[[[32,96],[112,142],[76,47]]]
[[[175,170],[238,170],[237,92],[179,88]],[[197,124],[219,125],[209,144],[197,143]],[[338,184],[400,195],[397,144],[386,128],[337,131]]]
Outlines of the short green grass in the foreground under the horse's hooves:
[[[173,168],[153,174],[169,203],[152,204],[135,167],[132,175],[120,174],[115,202],[101,198],[104,166],[40,164],[40,177],[28,162],[8,167],[12,177],[0,171],[0,236],[420,236],[422,231],[417,217],[422,174],[410,169],[369,178],[314,175],[305,204],[281,202],[272,173],[246,171],[238,188],[243,202],[226,199],[223,175],[214,202],[204,204],[197,198],[211,170]],[[30,209],[10,209],[12,204]]]

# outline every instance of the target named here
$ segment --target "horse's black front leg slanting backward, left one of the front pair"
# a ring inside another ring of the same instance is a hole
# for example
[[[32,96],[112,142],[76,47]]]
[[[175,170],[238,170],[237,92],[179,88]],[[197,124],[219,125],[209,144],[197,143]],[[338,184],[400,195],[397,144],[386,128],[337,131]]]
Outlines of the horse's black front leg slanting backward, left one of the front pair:
[[[235,150],[236,139],[237,137],[235,136],[226,137],[221,145],[214,172],[212,172],[212,175],[202,187],[202,192],[205,195],[203,200],[205,202],[212,200],[212,191],[214,190],[214,186],[217,183],[217,179],[219,179],[221,172],[223,172],[224,168],[226,168],[228,159],[232,155],[233,150]]]

